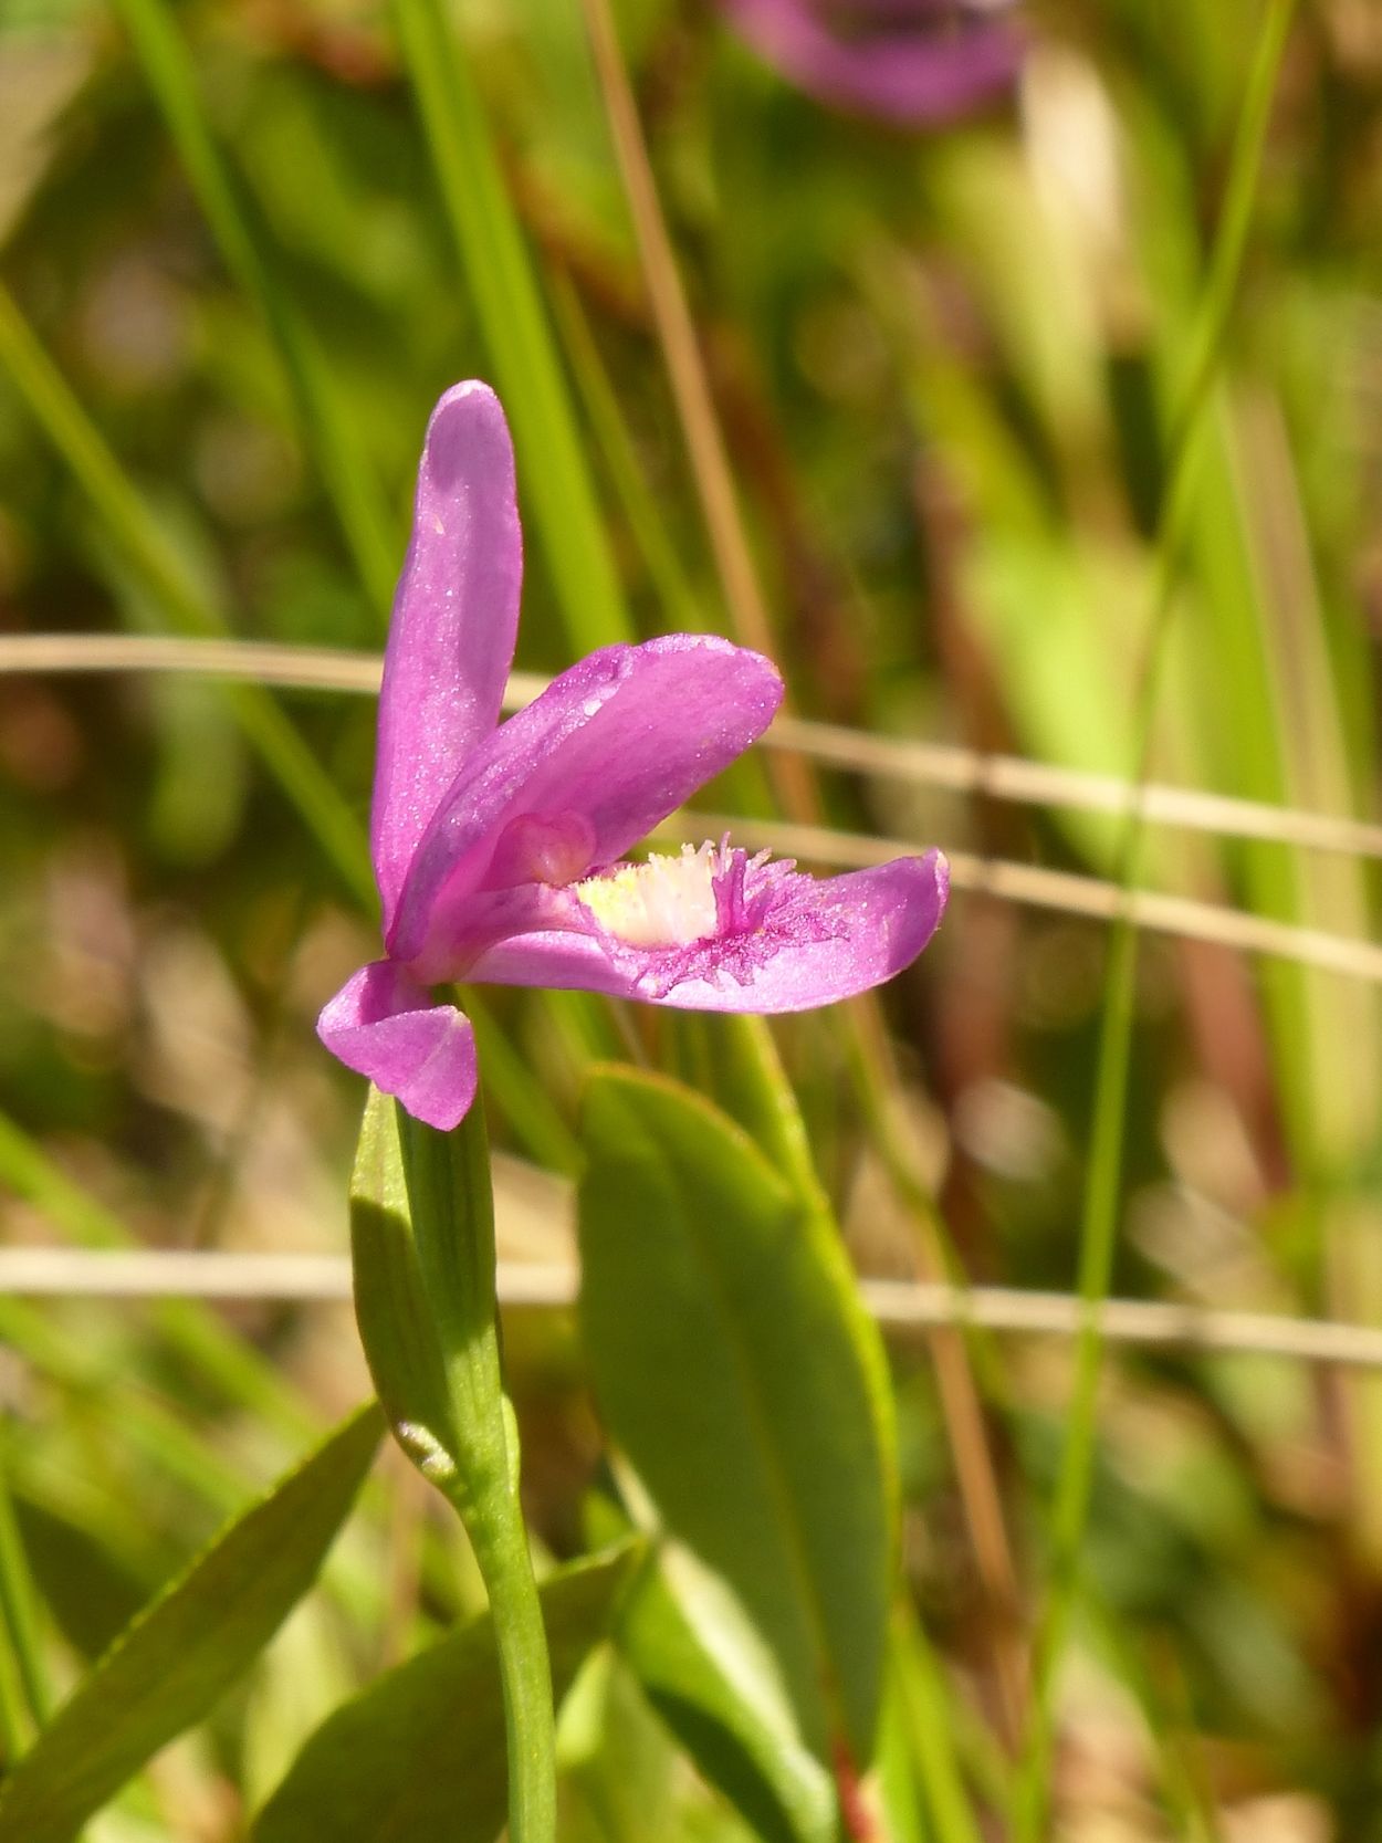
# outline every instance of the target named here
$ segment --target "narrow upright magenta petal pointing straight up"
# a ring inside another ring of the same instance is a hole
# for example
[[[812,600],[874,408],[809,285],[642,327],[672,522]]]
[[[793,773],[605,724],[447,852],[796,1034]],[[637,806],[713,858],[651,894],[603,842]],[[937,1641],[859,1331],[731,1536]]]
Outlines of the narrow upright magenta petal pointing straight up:
[[[442,794],[499,721],[521,579],[509,426],[488,385],[457,383],[427,424],[383,658],[370,833],[385,929]]]

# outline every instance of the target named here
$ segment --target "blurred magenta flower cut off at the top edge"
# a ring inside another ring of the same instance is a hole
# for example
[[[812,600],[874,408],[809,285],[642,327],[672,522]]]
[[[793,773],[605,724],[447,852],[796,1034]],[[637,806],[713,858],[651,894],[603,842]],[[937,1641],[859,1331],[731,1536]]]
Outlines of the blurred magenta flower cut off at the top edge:
[[[903,127],[951,122],[1006,90],[1025,39],[982,0],[722,0],[791,83]]]

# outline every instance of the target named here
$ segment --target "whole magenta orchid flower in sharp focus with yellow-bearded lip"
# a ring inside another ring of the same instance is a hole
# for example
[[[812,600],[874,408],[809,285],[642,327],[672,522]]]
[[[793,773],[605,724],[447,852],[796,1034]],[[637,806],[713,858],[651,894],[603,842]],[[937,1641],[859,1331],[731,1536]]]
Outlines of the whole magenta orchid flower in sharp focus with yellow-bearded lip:
[[[732,844],[625,851],[772,721],[781,678],[713,634],[603,647],[499,724],[523,546],[496,394],[427,426],[380,693],[370,846],[385,958],[317,1032],[429,1126],[475,1095],[453,980],[577,986],[709,1012],[796,1012],[890,979],[947,894],[940,851],[816,881]]]

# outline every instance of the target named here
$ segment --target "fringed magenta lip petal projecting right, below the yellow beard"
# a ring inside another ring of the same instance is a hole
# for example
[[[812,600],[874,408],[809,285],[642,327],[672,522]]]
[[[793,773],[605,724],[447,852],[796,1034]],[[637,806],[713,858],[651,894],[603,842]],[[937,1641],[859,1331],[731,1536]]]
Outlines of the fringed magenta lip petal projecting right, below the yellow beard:
[[[811,912],[831,933],[785,944],[748,984],[685,979],[654,997],[658,951],[619,964],[590,934],[520,934],[475,962],[472,977],[496,986],[555,986],[649,999],[691,1012],[805,1012],[851,999],[892,979],[921,953],[940,925],[949,866],[940,851],[897,857],[814,885]]]

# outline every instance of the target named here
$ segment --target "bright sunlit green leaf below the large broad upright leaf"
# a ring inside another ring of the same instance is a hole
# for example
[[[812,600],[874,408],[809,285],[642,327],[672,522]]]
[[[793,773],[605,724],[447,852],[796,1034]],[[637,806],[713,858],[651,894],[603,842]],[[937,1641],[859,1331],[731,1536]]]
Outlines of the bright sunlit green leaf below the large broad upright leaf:
[[[803,1745],[772,1657],[724,1581],[665,1544],[615,1640],[704,1778],[763,1843],[835,1843],[831,1777]]]

